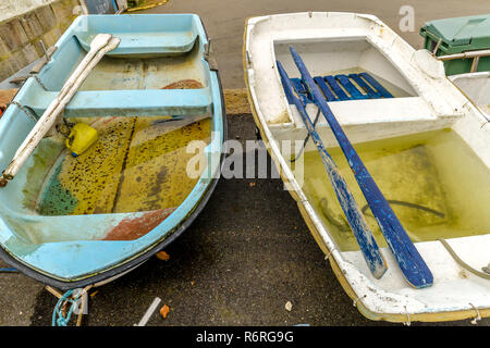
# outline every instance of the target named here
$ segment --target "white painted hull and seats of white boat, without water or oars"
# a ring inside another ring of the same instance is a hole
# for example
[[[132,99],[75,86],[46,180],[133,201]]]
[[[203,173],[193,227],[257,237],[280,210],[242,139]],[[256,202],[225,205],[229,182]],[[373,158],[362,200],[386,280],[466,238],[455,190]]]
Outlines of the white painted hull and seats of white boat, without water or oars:
[[[314,12],[248,20],[245,70],[262,136],[286,186],[295,190],[298,203],[318,231],[320,243],[331,251],[341,276],[355,291],[358,301],[369,312],[385,318],[465,311],[474,307],[489,309],[490,282],[463,271],[439,241],[416,244],[434,275],[433,286],[425,289],[409,287],[387,249],[383,253],[389,270],[381,279],[370,275],[360,251],[338,250],[280,151],[280,140],[306,136],[296,110],[287,104],[275,66],[275,60],[280,59],[291,77],[298,76],[287,58],[289,44],[295,46],[314,76],[360,66],[408,95],[394,99],[330,102],[352,142],[452,128],[490,167],[490,126],[482,112],[445,77],[441,62],[427,51],[415,51],[375,16]],[[307,111],[311,119],[315,117],[314,105],[308,105]],[[320,121],[317,130],[327,147],[336,144],[326,122]],[[453,238],[450,244],[476,269],[490,261],[488,232],[480,236]]]

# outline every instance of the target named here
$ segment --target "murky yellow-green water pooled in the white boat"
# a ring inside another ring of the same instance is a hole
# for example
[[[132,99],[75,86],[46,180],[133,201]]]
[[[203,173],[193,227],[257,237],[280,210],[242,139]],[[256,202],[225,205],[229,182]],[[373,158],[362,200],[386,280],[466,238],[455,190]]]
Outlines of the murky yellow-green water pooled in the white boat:
[[[490,172],[453,130],[354,146],[414,241],[490,233]],[[381,247],[387,243],[340,148],[328,149]],[[304,191],[342,251],[358,245],[317,151],[304,158]]]

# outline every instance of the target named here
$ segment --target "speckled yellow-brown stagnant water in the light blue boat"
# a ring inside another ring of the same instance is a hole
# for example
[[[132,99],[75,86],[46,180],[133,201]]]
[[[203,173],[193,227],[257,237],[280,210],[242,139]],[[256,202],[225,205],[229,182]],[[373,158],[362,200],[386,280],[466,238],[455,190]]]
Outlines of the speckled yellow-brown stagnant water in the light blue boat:
[[[179,207],[196,185],[189,141],[210,141],[210,117],[78,119],[99,138],[74,158],[64,138],[45,138],[34,153],[24,207],[41,215],[151,211]],[[204,170],[204,167],[201,169]]]

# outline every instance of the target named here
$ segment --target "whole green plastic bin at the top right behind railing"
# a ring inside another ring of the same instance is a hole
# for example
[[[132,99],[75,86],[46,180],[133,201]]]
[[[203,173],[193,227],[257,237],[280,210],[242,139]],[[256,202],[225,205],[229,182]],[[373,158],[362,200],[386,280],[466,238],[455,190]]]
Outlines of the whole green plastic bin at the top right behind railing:
[[[427,22],[420,28],[425,48],[431,52],[439,39],[436,55],[448,55],[475,50],[490,49],[490,14],[445,18]],[[473,59],[444,61],[445,74],[465,74],[471,70]],[[479,59],[477,72],[490,71],[490,57]]]

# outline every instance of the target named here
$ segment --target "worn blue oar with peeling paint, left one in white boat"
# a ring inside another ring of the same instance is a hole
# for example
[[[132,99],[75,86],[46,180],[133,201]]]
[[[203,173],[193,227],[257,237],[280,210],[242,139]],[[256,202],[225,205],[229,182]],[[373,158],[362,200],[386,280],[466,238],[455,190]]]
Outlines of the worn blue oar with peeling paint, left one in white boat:
[[[308,134],[311,136],[313,141],[317,146],[324,169],[327,170],[329,179],[332,183],[332,186],[335,190],[336,198],[339,199],[342,210],[344,211],[344,214],[347,217],[347,222],[351,225],[351,228],[354,233],[354,236],[357,239],[360,250],[363,251],[363,256],[364,259],[366,260],[369,271],[371,271],[372,275],[376,278],[380,278],[387,271],[388,266],[383,256],[381,254],[381,251],[379,250],[378,244],[376,243],[376,239],[372,236],[372,233],[369,229],[363,213],[357,207],[354,196],[348,190],[347,184],[341,176],[339,169],[336,167],[332,158],[327,152],[318,133],[315,130],[315,126],[311,123],[311,120],[309,119],[308,114],[306,113],[304,105],[302,104],[301,100],[295,96],[294,87],[291,84],[291,80],[287,77],[287,74],[282,67],[280,62],[278,62],[278,69],[281,75],[281,80],[287,97],[287,101],[290,103],[293,102],[296,105],[296,109],[299,112],[299,115],[302,116],[306,128],[308,129]]]

